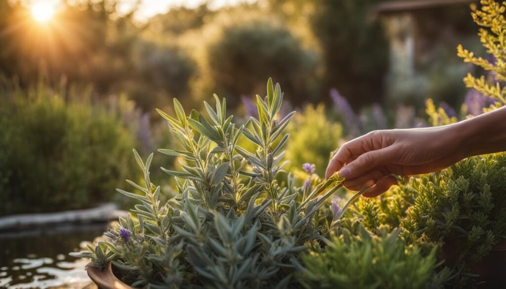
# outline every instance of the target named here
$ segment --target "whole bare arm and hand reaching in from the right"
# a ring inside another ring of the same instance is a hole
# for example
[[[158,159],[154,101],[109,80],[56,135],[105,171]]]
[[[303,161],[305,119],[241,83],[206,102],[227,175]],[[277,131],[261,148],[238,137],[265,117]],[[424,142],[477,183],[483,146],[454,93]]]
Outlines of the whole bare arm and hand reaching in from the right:
[[[452,125],[374,131],[344,144],[330,160],[326,177],[339,171],[345,186],[377,196],[401,176],[435,172],[473,155],[506,150],[506,107]]]

